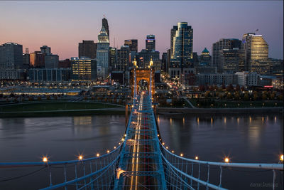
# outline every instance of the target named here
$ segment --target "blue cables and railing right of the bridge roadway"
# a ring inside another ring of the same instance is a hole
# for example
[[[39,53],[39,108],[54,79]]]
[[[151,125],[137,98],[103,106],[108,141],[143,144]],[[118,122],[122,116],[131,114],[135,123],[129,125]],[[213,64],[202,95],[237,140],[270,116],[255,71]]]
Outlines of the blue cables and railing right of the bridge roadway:
[[[165,179],[167,186],[174,189],[225,189],[222,187],[224,169],[243,168],[258,171],[271,171],[272,189],[277,187],[275,183],[276,171],[283,171],[283,164],[249,164],[249,163],[228,163],[207,162],[197,159],[187,159],[170,152],[160,142],[160,153],[163,157]],[[258,172],[256,171],[256,172]],[[251,171],[247,171],[251,172]],[[212,174],[210,176],[210,174]],[[268,178],[269,179],[269,178]]]

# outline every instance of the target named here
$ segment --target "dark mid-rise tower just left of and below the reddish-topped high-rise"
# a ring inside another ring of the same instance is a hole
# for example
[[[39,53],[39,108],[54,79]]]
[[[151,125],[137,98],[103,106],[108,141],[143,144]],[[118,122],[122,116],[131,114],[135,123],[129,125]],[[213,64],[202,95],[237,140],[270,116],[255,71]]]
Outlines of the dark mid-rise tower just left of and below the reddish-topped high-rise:
[[[117,50],[117,69],[125,71],[129,68],[129,46],[121,46]]]

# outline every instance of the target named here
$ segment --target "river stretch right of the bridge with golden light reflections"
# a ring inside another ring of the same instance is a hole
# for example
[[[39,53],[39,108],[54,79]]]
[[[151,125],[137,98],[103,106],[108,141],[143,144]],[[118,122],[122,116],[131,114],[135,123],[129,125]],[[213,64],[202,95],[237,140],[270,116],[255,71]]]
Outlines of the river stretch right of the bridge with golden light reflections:
[[[219,162],[230,153],[234,162],[273,163],[278,159],[271,155],[283,152],[283,120],[275,118],[277,115],[160,116],[159,125],[169,149],[188,157],[198,154]]]

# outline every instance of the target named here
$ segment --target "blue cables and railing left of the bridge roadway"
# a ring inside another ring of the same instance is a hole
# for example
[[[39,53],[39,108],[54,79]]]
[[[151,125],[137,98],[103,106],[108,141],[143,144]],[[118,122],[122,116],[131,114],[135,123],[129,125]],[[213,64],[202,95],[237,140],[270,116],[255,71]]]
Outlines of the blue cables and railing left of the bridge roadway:
[[[63,162],[9,162],[0,163],[0,182],[13,181],[19,178],[28,178],[38,173],[45,178],[40,186],[43,189],[111,189],[114,186],[116,167],[118,164],[121,145],[107,154],[88,159],[78,157],[77,160]],[[18,176],[20,170],[31,171]],[[3,178],[4,177],[4,178]]]

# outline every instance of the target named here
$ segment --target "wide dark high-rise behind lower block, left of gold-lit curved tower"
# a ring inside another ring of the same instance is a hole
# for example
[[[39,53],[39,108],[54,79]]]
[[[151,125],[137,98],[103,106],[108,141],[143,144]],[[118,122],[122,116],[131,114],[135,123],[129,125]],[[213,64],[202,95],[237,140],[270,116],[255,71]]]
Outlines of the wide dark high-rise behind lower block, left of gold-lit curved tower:
[[[241,48],[241,41],[234,38],[222,38],[212,45],[212,66],[217,67],[217,71],[222,73],[220,62],[220,50]]]

